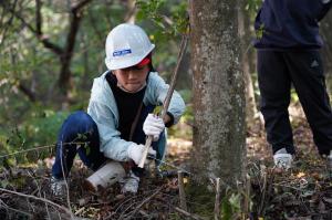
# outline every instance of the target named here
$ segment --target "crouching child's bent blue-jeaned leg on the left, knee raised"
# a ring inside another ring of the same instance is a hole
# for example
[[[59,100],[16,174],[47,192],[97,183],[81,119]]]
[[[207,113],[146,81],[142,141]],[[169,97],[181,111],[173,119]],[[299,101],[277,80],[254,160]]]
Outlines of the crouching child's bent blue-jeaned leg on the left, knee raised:
[[[55,163],[52,167],[54,178],[62,179],[69,175],[76,153],[92,169],[97,169],[105,161],[100,151],[97,126],[91,116],[82,111],[71,114],[60,129]]]

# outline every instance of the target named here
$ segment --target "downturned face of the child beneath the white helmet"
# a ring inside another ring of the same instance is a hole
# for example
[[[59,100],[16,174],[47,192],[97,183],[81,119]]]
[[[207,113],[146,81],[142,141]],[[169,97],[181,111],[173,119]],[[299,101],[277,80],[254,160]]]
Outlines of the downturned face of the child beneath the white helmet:
[[[117,83],[129,93],[138,92],[146,83],[148,74],[148,65],[132,66],[113,71],[117,78]]]

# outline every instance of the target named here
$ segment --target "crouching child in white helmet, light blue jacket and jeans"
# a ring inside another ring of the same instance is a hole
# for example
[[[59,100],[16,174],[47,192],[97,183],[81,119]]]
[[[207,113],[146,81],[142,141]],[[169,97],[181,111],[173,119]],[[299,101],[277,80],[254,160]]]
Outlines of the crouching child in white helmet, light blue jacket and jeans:
[[[63,193],[64,177],[69,176],[76,154],[92,170],[110,159],[129,164],[122,191],[137,192],[144,174],[137,165],[146,136],[154,137],[149,151],[156,154],[158,166],[166,151],[165,127],[177,123],[184,113],[185,103],[175,91],[165,117],[152,114],[155,106],[163,104],[169,86],[154,71],[155,45],[139,27],[115,27],[105,48],[108,71],[94,80],[87,114],[73,113],[59,133],[51,179],[55,195]]]

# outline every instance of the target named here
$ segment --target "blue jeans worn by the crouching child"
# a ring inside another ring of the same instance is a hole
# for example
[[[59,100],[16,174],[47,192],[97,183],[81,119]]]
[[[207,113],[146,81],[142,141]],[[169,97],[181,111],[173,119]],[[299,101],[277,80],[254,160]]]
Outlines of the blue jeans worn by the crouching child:
[[[145,144],[145,134],[143,132],[143,123],[148,113],[153,111],[153,106],[142,109],[133,140],[136,144]],[[80,146],[80,147],[79,147]],[[157,151],[156,158],[162,159],[166,148],[165,132],[162,133],[158,142],[153,143],[153,148]],[[106,157],[100,151],[98,129],[92,117],[83,111],[71,114],[63,123],[56,142],[55,163],[52,167],[53,177],[61,179],[68,176],[74,161],[74,157],[79,154],[85,166],[92,170],[96,170],[106,161]],[[160,163],[156,160],[156,165]],[[133,166],[132,170],[135,175],[142,176],[144,169]]]

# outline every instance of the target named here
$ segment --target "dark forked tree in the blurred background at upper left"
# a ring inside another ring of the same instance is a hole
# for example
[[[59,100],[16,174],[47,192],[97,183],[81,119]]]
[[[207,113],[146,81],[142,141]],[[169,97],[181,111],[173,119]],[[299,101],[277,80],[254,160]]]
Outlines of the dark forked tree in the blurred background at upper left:
[[[71,88],[71,77],[72,73],[70,70],[71,61],[73,56],[73,51],[76,42],[76,34],[79,32],[80,23],[83,15],[83,9],[86,7],[86,4],[90,3],[91,0],[82,0],[72,3],[69,6],[68,9],[68,19],[69,19],[69,31],[65,36],[65,43],[64,45],[60,45],[60,43],[55,43],[52,40],[50,40],[50,36],[48,33],[45,33],[45,24],[43,23],[44,18],[42,14],[42,7],[43,3],[40,0],[35,0],[34,2],[29,2],[31,11],[34,12],[34,14],[30,18],[29,11],[21,11],[22,8],[19,8],[15,10],[15,3],[10,4],[8,2],[2,2],[1,6],[3,7],[3,10],[10,11],[11,15],[18,19],[21,24],[28,29],[34,38],[48,50],[50,50],[52,53],[54,53],[55,56],[58,56],[60,61],[60,70],[59,70],[59,76],[58,76],[58,86],[61,88],[61,91],[68,95],[69,90]],[[22,3],[23,1],[21,1]],[[31,13],[31,12],[30,12]],[[23,84],[20,83],[19,88],[32,101],[35,101],[35,95],[33,91],[25,87]]]

